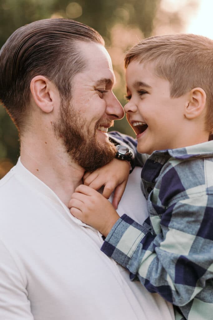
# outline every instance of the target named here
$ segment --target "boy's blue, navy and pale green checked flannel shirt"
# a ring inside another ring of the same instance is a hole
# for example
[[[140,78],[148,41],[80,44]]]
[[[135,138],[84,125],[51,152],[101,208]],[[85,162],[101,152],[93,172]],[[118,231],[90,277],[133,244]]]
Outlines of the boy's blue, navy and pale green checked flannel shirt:
[[[136,146],[125,135],[112,137]],[[149,218],[141,226],[123,215],[101,250],[131,280],[178,306],[176,320],[212,320],[213,141],[153,152],[141,182]]]

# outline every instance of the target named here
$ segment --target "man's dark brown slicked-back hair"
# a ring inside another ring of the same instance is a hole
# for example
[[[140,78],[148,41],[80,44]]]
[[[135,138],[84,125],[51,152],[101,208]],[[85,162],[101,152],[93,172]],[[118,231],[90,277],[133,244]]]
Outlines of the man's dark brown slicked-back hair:
[[[22,131],[30,113],[30,82],[42,75],[63,100],[71,99],[73,76],[87,65],[79,41],[104,45],[93,28],[69,19],[45,19],[17,29],[0,51],[0,100]]]

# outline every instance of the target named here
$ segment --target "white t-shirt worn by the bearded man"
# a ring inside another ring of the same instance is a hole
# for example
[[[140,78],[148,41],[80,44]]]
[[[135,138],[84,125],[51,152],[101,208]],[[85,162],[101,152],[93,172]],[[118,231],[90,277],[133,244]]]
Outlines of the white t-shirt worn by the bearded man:
[[[129,180],[118,212],[142,223],[140,169]],[[19,159],[0,181],[0,319],[174,319],[172,305],[131,282],[102,243]]]

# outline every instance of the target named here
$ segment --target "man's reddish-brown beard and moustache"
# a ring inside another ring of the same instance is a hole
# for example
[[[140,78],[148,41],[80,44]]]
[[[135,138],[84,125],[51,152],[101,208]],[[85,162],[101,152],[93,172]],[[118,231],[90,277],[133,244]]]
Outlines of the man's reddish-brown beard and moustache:
[[[116,155],[115,146],[109,141],[101,144],[97,140],[97,128],[100,124],[112,121],[99,120],[95,131],[90,132],[86,119],[72,105],[62,102],[60,117],[53,124],[53,130],[58,139],[62,139],[66,152],[71,161],[75,161],[85,171],[94,171],[110,162]]]

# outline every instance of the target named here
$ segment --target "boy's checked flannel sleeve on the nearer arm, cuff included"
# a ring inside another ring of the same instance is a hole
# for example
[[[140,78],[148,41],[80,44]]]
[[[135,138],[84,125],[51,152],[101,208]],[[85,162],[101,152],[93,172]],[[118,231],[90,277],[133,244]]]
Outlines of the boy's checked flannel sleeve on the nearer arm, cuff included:
[[[131,280],[183,306],[204,287],[213,289],[212,216],[213,195],[196,194],[166,208],[158,235],[123,215],[101,250],[128,269]]]

